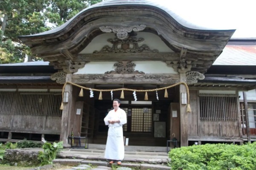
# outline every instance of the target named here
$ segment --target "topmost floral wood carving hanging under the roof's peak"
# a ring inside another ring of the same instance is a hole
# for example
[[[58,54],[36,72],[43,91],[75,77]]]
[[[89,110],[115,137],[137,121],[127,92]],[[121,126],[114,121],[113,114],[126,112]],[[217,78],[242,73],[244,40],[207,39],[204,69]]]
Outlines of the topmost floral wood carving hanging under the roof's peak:
[[[128,33],[131,31],[139,32],[146,28],[145,25],[134,25],[134,26],[101,26],[99,29],[105,33],[116,33],[116,37],[120,40],[128,38]]]

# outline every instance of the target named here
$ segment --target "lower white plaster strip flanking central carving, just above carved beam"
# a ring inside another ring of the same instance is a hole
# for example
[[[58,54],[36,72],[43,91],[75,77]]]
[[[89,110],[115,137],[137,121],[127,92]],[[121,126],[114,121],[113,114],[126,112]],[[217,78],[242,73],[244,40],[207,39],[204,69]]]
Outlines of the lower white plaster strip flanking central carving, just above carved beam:
[[[74,74],[105,74],[106,71],[115,70],[116,62],[89,62],[84,68]],[[168,67],[165,62],[161,61],[137,61],[134,70],[143,71],[145,74],[178,74],[172,67]]]

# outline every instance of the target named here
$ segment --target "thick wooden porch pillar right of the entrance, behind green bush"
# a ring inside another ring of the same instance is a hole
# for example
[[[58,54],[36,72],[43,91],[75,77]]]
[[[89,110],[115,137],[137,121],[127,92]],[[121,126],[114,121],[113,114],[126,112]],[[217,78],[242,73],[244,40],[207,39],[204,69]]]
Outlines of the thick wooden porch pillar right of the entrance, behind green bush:
[[[179,73],[180,82],[186,82],[186,71],[179,70]],[[187,105],[181,104],[181,93],[187,93],[185,85],[180,85],[180,146],[188,146],[188,113],[186,112]]]

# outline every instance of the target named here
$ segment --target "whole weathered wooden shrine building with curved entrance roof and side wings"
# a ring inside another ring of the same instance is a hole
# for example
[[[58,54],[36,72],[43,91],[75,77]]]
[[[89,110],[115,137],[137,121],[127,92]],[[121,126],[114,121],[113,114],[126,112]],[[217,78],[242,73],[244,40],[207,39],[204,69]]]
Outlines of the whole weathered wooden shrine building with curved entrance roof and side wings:
[[[232,42],[255,49],[255,41],[230,40],[234,31],[195,26],[150,0],[109,0],[58,28],[20,36],[44,62],[0,65],[0,139],[45,137],[68,146],[73,131],[105,144],[103,119],[120,99],[116,89],[134,89],[123,91],[120,106],[129,145],[254,140],[239,92],[255,91],[255,65],[212,65]]]

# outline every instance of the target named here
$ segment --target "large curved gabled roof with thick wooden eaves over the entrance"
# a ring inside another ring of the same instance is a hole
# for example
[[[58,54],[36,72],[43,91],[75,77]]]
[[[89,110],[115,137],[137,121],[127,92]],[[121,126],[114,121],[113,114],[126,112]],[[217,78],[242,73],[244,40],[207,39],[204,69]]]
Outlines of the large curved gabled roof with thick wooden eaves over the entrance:
[[[100,27],[134,25],[145,25],[143,31],[158,35],[176,53],[187,49],[186,54],[194,55],[192,61],[202,60],[199,69],[209,68],[235,31],[195,26],[152,0],[108,0],[85,8],[58,28],[20,40],[45,61],[63,62],[73,60],[95,37],[105,34]]]

